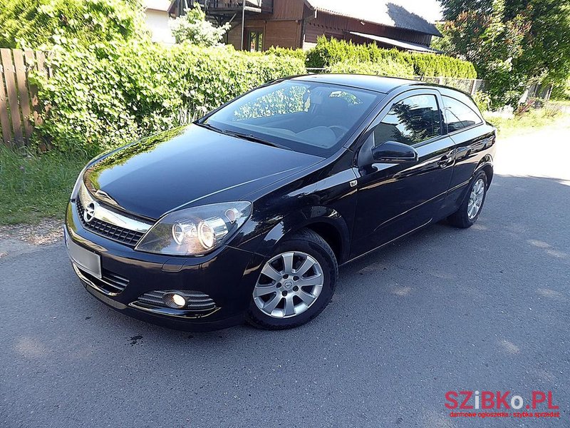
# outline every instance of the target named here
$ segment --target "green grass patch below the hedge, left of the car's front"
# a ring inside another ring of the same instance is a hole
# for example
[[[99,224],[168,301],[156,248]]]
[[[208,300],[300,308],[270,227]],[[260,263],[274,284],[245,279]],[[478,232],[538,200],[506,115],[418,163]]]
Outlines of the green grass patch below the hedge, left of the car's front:
[[[0,146],[0,225],[63,219],[86,156],[23,155]]]

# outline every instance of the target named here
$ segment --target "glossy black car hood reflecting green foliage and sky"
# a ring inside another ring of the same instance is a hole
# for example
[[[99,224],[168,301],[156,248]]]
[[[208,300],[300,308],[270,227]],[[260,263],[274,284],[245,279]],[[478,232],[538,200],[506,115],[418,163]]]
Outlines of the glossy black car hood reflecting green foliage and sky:
[[[240,200],[318,161],[190,125],[103,156],[83,181],[95,198],[157,219],[182,205]]]

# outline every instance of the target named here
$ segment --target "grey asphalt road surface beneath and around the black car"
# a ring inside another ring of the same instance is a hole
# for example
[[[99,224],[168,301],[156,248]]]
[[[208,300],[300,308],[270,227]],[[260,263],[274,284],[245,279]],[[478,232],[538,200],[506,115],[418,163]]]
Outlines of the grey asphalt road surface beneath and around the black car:
[[[88,295],[61,242],[1,258],[0,427],[570,426],[568,134],[505,142],[475,227],[343,267],[296,330],[166,330]],[[558,155],[520,158],[537,142]],[[550,390],[561,417],[452,419],[450,390]]]

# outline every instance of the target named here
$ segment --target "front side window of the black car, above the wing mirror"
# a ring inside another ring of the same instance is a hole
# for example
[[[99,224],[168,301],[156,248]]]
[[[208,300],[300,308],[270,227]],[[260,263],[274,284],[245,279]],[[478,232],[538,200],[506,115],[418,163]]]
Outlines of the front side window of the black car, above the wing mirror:
[[[434,95],[415,95],[395,103],[374,129],[374,145],[397,141],[413,145],[441,133],[440,109]]]

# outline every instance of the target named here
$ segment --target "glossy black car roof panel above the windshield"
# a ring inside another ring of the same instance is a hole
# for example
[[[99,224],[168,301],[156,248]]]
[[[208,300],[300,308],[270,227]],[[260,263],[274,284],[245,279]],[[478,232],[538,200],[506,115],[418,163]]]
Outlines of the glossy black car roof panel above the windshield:
[[[381,93],[389,93],[400,86],[427,86],[427,83],[407,78],[369,76],[367,74],[307,74],[306,76],[295,76],[292,80],[331,83]]]

